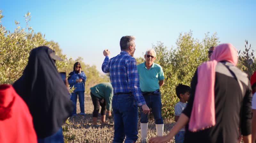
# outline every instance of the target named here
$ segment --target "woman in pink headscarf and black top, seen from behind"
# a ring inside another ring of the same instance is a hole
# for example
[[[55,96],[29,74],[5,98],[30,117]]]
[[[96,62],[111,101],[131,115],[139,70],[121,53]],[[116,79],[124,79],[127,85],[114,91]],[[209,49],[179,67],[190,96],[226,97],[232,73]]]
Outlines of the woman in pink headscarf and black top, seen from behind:
[[[197,68],[187,107],[170,133],[151,138],[168,142],[186,125],[184,143],[237,143],[239,129],[244,143],[251,143],[252,89],[247,75],[236,68],[237,50],[221,44],[211,60]]]

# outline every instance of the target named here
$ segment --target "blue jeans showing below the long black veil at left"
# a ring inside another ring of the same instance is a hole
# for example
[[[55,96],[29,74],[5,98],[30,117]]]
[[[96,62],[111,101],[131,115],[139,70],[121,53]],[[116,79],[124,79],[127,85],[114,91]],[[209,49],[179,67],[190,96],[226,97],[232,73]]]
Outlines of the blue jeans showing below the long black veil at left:
[[[53,134],[49,137],[43,138],[43,139],[37,139],[37,141],[38,141],[38,143],[64,143],[62,127],[55,134]]]

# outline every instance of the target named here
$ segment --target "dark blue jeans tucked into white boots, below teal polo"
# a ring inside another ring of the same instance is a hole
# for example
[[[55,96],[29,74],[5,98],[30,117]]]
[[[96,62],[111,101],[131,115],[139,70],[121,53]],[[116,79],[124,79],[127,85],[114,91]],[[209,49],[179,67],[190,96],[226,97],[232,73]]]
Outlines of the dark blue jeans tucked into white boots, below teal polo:
[[[155,123],[156,124],[164,124],[162,118],[162,102],[161,102],[161,94],[149,94],[143,95],[148,108],[152,109]],[[142,112],[142,108],[140,107],[140,123],[148,123],[148,114],[144,114]]]

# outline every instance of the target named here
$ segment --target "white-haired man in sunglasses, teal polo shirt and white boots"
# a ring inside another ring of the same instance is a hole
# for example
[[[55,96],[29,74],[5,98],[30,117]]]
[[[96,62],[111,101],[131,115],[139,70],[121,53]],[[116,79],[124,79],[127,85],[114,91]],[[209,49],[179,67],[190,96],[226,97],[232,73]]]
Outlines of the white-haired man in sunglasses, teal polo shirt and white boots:
[[[152,109],[157,136],[163,136],[164,122],[161,115],[161,93],[159,88],[164,85],[164,72],[160,65],[154,63],[156,60],[156,52],[154,49],[147,50],[145,54],[145,62],[139,64],[138,73],[140,76],[140,89],[145,98],[146,104]],[[146,142],[148,134],[148,115],[140,115],[141,142]]]

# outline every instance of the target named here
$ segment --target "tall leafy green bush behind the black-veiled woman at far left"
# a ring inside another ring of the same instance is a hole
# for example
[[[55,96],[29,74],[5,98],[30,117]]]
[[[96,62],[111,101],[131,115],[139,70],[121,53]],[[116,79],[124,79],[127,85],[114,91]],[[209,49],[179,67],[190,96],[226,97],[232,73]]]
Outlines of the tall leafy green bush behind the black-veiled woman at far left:
[[[0,22],[2,11],[0,11]],[[28,63],[30,51],[38,46],[48,46],[52,48],[58,56],[64,61],[57,61],[58,70],[66,67],[68,61],[67,56],[61,54],[58,43],[45,40],[41,33],[34,33],[32,27],[28,26],[31,19],[30,12],[25,14],[26,28],[19,26],[20,22],[15,21],[16,29],[14,32],[7,31],[0,23],[0,83],[12,84],[20,78]]]

